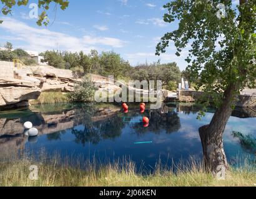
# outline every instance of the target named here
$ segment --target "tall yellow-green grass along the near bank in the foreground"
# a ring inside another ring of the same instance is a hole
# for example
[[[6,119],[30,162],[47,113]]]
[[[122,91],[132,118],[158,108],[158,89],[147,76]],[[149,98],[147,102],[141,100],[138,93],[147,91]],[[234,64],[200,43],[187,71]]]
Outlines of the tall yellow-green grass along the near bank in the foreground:
[[[83,161],[82,164],[85,164]],[[29,167],[38,165],[38,180],[29,180]],[[59,165],[59,166],[58,166]],[[217,180],[206,174],[202,167],[192,166],[179,169],[176,174],[156,169],[154,174],[136,174],[135,165],[126,162],[109,164],[96,169],[95,164],[86,163],[86,169],[59,164],[56,158],[51,162],[32,159],[11,160],[0,163],[0,186],[255,186],[256,170],[249,167],[231,168],[226,180]]]

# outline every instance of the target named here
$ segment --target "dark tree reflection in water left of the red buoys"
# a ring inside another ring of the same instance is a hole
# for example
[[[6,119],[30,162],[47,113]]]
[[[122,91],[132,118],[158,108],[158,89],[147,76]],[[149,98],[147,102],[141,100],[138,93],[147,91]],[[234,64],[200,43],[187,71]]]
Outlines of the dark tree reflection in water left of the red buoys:
[[[94,104],[82,104],[74,111],[76,126],[82,125],[82,129],[78,127],[72,129],[72,134],[76,136],[77,143],[85,145],[86,142],[92,142],[92,144],[97,144],[102,139],[113,139],[121,136],[124,123],[119,114],[94,122],[92,117],[97,115]]]

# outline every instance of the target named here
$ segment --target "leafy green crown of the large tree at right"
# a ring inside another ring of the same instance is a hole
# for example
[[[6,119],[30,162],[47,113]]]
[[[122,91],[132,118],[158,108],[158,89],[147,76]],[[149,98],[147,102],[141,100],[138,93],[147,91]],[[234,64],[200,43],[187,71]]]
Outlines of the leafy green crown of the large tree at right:
[[[232,1],[224,1],[227,16],[221,19],[216,14],[219,2],[167,3],[164,21],[178,20],[179,28],[165,34],[156,48],[160,55],[173,42],[179,56],[182,49],[190,47],[186,58],[189,75],[198,87],[204,85],[204,91],[216,97],[216,106],[229,99],[224,92],[230,90],[229,100],[234,103],[239,90],[255,87],[256,78],[256,0],[240,1],[236,8]]]

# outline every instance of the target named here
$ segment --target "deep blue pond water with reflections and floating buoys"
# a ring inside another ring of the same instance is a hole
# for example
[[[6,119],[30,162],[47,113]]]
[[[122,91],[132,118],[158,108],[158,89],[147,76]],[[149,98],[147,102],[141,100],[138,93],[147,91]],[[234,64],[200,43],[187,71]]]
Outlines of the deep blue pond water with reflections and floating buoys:
[[[214,110],[209,109],[200,121],[199,109],[193,104],[169,104],[140,114],[137,105],[130,105],[129,113],[124,114],[121,106],[108,104],[55,104],[1,111],[0,151],[1,155],[11,155],[43,148],[46,154],[82,155],[102,163],[126,157],[138,168],[150,170],[159,160],[162,164],[178,164],[190,156],[202,159],[198,129],[209,124]],[[140,122],[142,116],[150,118],[148,127]],[[24,136],[22,124],[26,121],[32,121],[39,129],[39,136]],[[255,146],[234,137],[233,131],[250,135],[255,144],[255,113],[248,109],[234,111],[224,136],[230,163],[239,164],[237,157],[254,159]]]

